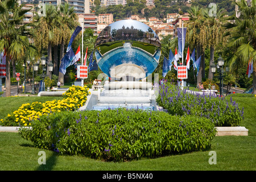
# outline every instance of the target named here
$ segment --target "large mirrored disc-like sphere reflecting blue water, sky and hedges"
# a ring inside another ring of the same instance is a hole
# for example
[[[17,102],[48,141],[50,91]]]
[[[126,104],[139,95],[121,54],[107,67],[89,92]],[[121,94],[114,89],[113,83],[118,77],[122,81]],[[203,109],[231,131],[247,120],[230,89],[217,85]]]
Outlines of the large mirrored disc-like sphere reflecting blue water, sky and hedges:
[[[158,66],[160,46],[158,36],[147,24],[119,20],[98,35],[95,56],[98,67],[109,77],[138,81]]]

